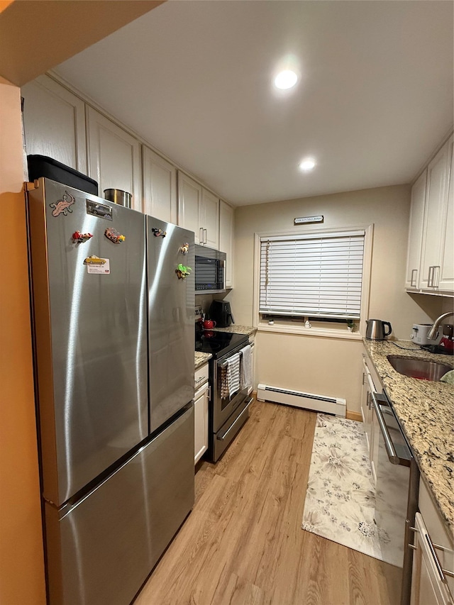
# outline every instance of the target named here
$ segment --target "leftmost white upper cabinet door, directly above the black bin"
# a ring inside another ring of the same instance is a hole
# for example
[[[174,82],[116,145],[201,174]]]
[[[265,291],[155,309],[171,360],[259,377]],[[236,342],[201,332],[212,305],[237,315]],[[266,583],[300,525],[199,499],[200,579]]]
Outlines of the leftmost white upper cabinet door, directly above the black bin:
[[[48,76],[26,84],[21,95],[27,153],[87,174],[84,101]]]

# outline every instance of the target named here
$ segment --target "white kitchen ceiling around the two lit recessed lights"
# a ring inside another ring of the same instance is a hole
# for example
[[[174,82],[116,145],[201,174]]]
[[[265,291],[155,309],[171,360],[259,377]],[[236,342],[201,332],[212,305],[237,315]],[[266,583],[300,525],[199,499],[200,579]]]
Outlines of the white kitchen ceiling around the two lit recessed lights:
[[[170,0],[54,71],[238,206],[409,183],[453,124],[453,2]]]

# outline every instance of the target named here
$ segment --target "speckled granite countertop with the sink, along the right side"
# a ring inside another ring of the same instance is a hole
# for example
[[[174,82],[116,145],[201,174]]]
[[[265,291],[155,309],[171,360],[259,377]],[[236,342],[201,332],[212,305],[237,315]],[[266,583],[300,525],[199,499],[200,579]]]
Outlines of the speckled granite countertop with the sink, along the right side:
[[[415,348],[411,340],[363,340],[382,380],[399,423],[418,462],[421,476],[431,489],[445,525],[454,533],[454,385],[429,382],[399,374],[387,355],[419,357],[454,367],[451,355],[436,355]]]

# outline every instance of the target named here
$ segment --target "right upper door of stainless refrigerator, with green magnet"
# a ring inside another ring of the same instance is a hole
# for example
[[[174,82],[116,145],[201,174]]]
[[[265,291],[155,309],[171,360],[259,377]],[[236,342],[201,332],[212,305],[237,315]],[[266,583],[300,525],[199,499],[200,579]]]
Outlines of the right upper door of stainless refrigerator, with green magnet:
[[[155,230],[155,231],[153,231]],[[165,233],[166,235],[155,235]],[[194,278],[178,279],[178,265],[194,267],[194,233],[147,216],[150,431],[194,398]]]

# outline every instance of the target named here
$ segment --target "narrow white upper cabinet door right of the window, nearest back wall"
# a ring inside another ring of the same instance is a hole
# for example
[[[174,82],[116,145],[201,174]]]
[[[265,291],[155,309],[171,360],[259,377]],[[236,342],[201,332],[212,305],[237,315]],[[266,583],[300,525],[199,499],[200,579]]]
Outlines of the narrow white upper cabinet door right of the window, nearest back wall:
[[[406,257],[406,288],[419,288],[426,183],[427,170],[424,170],[411,188],[409,245]]]

